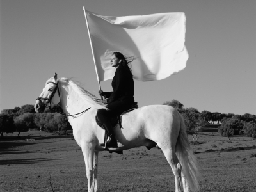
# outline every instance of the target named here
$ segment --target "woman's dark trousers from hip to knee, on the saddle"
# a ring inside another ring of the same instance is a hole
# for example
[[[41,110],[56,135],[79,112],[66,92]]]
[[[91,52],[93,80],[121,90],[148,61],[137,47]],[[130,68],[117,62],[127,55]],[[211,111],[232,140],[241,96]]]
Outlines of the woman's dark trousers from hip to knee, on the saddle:
[[[131,105],[134,103],[134,100],[116,100],[109,103],[106,109],[98,109],[97,118],[101,124],[108,123],[113,116],[121,115],[124,111],[127,111]]]

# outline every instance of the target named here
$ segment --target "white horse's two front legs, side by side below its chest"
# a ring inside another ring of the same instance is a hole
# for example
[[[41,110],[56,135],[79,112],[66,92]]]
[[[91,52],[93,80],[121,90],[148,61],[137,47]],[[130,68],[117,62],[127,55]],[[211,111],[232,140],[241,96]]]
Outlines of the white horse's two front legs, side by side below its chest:
[[[95,175],[95,165],[93,160],[95,159],[95,152],[92,145],[88,144],[82,147],[84,162],[86,167],[86,176],[88,180],[88,192],[97,191],[97,166],[96,166],[96,175]],[[96,181],[95,181],[96,176]]]

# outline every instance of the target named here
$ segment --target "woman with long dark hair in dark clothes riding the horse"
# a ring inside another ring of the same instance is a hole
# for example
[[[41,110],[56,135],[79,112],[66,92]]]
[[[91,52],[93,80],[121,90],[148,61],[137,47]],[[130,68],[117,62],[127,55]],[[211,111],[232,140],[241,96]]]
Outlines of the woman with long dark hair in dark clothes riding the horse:
[[[108,110],[99,109],[97,111],[97,118],[109,136],[106,147],[117,148],[118,146],[110,120],[111,117],[120,115],[129,109],[134,103],[134,81],[131,67],[128,66],[131,61],[127,61],[122,53],[114,52],[110,62],[112,67],[117,67],[112,81],[113,92],[99,91],[100,96],[108,98],[108,105],[106,106]]]

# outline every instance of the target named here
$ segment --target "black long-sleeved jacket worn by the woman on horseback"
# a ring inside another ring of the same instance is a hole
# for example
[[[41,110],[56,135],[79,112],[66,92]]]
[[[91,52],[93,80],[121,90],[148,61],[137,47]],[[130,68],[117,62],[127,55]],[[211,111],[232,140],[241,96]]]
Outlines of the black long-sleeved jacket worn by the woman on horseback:
[[[103,92],[103,96],[108,98],[108,103],[115,100],[129,100],[134,102],[134,81],[131,72],[122,64],[116,68],[115,76],[112,80],[113,92]]]

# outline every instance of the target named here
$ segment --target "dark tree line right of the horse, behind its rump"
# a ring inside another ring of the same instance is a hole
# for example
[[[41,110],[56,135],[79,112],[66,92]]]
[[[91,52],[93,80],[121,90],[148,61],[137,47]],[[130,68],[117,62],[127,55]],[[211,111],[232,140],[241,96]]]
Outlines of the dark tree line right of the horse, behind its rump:
[[[211,113],[206,110],[200,113],[196,108],[184,108],[184,105],[175,99],[166,101],[163,104],[172,106],[179,111],[184,118],[187,133],[193,136],[194,141],[197,141],[197,134],[200,129],[209,124],[219,124],[219,134],[221,136],[228,136],[229,139],[231,136],[243,132],[247,136],[256,138],[256,115],[249,113],[245,113],[244,115],[219,112]]]

